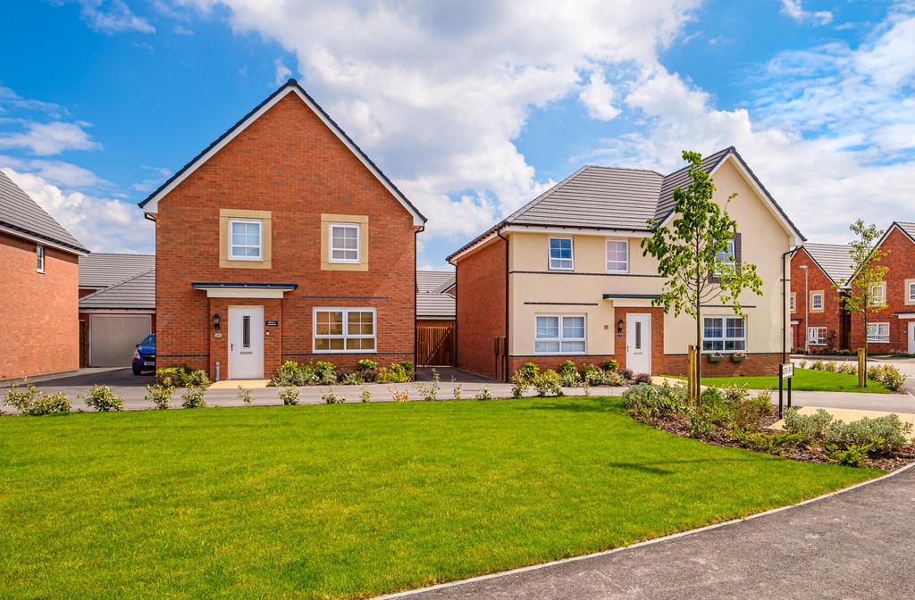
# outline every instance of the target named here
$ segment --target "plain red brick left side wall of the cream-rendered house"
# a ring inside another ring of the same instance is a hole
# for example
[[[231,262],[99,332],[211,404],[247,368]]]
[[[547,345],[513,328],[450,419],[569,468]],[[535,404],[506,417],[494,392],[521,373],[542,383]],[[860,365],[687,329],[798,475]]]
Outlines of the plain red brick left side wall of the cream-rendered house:
[[[493,338],[505,336],[505,246],[500,239],[458,261],[458,369],[503,379]]]

